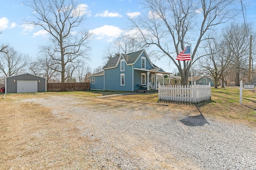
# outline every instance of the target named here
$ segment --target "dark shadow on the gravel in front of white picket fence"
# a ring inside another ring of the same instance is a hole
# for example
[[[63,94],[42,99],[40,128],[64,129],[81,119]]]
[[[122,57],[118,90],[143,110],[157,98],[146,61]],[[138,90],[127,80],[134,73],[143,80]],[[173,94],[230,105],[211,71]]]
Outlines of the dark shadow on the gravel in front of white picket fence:
[[[198,109],[198,107],[196,106],[196,108]],[[200,112],[200,115],[196,115],[196,116],[187,116],[184,119],[181,119],[180,122],[183,123],[186,126],[204,126],[205,124],[210,125],[210,123],[208,123],[208,121],[204,118],[204,115],[202,114],[202,112],[198,109],[198,111]]]

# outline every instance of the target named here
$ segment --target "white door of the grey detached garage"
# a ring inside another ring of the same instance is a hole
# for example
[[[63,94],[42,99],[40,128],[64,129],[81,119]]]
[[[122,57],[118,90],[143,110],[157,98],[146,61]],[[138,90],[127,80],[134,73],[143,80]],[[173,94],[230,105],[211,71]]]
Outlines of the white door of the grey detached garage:
[[[17,80],[17,93],[37,92],[37,81]]]

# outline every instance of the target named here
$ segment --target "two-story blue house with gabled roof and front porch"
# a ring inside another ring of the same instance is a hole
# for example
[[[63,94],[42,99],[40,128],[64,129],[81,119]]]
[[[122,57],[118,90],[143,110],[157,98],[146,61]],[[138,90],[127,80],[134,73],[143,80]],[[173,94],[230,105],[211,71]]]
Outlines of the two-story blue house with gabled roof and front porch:
[[[157,89],[157,74],[172,73],[152,64],[145,50],[121,54],[110,59],[102,72],[90,76],[90,89],[132,92],[140,86],[145,90]]]

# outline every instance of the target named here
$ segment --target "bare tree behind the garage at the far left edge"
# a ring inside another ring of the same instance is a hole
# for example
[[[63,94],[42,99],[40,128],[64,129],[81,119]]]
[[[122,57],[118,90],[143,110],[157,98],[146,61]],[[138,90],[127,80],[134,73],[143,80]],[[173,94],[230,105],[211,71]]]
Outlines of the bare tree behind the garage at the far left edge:
[[[29,62],[28,55],[18,53],[18,51],[15,51],[14,48],[10,46],[6,47],[4,53],[0,53],[0,56],[0,71],[3,72],[5,76],[12,76],[23,72]]]

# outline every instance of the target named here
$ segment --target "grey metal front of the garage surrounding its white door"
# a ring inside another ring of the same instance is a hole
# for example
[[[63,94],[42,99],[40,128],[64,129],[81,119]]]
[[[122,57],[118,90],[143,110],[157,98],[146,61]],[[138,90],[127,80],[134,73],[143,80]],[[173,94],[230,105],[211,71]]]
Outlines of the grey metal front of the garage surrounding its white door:
[[[14,82],[15,80],[15,82]],[[17,93],[17,80],[37,80],[38,92],[46,92],[46,79],[31,74],[22,74],[17,76],[6,77],[6,93]],[[40,80],[40,82],[39,82]]]

